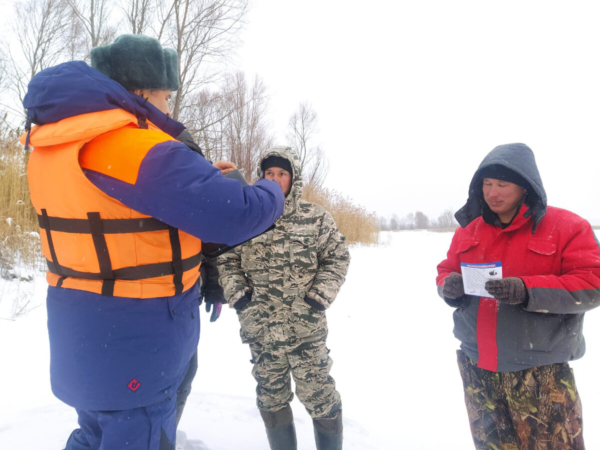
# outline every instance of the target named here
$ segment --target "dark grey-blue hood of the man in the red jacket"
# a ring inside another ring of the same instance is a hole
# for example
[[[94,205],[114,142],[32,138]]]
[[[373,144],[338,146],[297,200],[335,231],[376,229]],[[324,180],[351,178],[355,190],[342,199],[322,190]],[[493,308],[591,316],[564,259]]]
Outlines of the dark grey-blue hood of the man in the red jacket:
[[[533,152],[523,143],[499,145],[481,161],[469,185],[469,199],[467,199],[467,203],[454,214],[458,224],[464,228],[482,215],[487,205],[483,198],[482,178],[479,174],[482,169],[492,164],[504,166],[518,173],[529,184],[527,197],[524,202],[529,206],[529,209],[525,212],[525,217],[533,217],[532,233],[535,233],[535,227],[546,214],[548,200]]]

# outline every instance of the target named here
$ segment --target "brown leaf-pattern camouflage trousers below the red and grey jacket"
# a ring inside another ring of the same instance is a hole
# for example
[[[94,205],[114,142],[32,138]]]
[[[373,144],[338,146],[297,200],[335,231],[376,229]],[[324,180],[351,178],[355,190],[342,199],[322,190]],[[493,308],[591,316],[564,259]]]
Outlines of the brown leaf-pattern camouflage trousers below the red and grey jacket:
[[[462,350],[457,356],[476,449],[584,450],[581,401],[568,363],[491,372]]]

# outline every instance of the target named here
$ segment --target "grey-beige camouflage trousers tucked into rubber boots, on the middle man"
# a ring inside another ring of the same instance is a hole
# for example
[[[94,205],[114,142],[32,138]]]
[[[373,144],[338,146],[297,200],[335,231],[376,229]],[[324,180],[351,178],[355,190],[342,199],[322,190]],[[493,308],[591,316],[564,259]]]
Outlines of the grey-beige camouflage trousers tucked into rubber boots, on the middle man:
[[[325,339],[295,346],[263,346],[250,343],[256,379],[256,405],[260,410],[278,411],[292,401],[294,395],[290,374],[296,385],[296,395],[311,418],[334,419],[341,410],[340,393],[329,375],[332,359]]]

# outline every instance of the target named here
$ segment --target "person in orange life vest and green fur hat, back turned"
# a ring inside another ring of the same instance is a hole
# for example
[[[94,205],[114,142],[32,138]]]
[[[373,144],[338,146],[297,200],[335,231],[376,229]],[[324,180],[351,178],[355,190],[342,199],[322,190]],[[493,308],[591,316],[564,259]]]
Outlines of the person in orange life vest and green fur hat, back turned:
[[[263,232],[283,194],[272,181],[227,179],[228,167],[176,139],[184,126],[148,101],[178,88],[174,50],[122,35],[91,59],[99,70],[40,71],[23,99],[49,268],[50,382],[79,417],[68,450],[173,449],[200,331],[202,241]]]

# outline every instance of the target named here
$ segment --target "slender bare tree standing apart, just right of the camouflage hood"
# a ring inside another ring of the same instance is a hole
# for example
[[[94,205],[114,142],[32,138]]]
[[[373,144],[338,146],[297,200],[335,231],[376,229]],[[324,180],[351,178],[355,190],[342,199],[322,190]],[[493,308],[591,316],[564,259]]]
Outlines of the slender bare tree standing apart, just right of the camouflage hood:
[[[309,186],[323,184],[329,172],[329,163],[320,146],[311,146],[309,141],[318,132],[317,113],[308,102],[301,103],[288,122],[287,140],[298,151],[302,165],[302,178]]]

